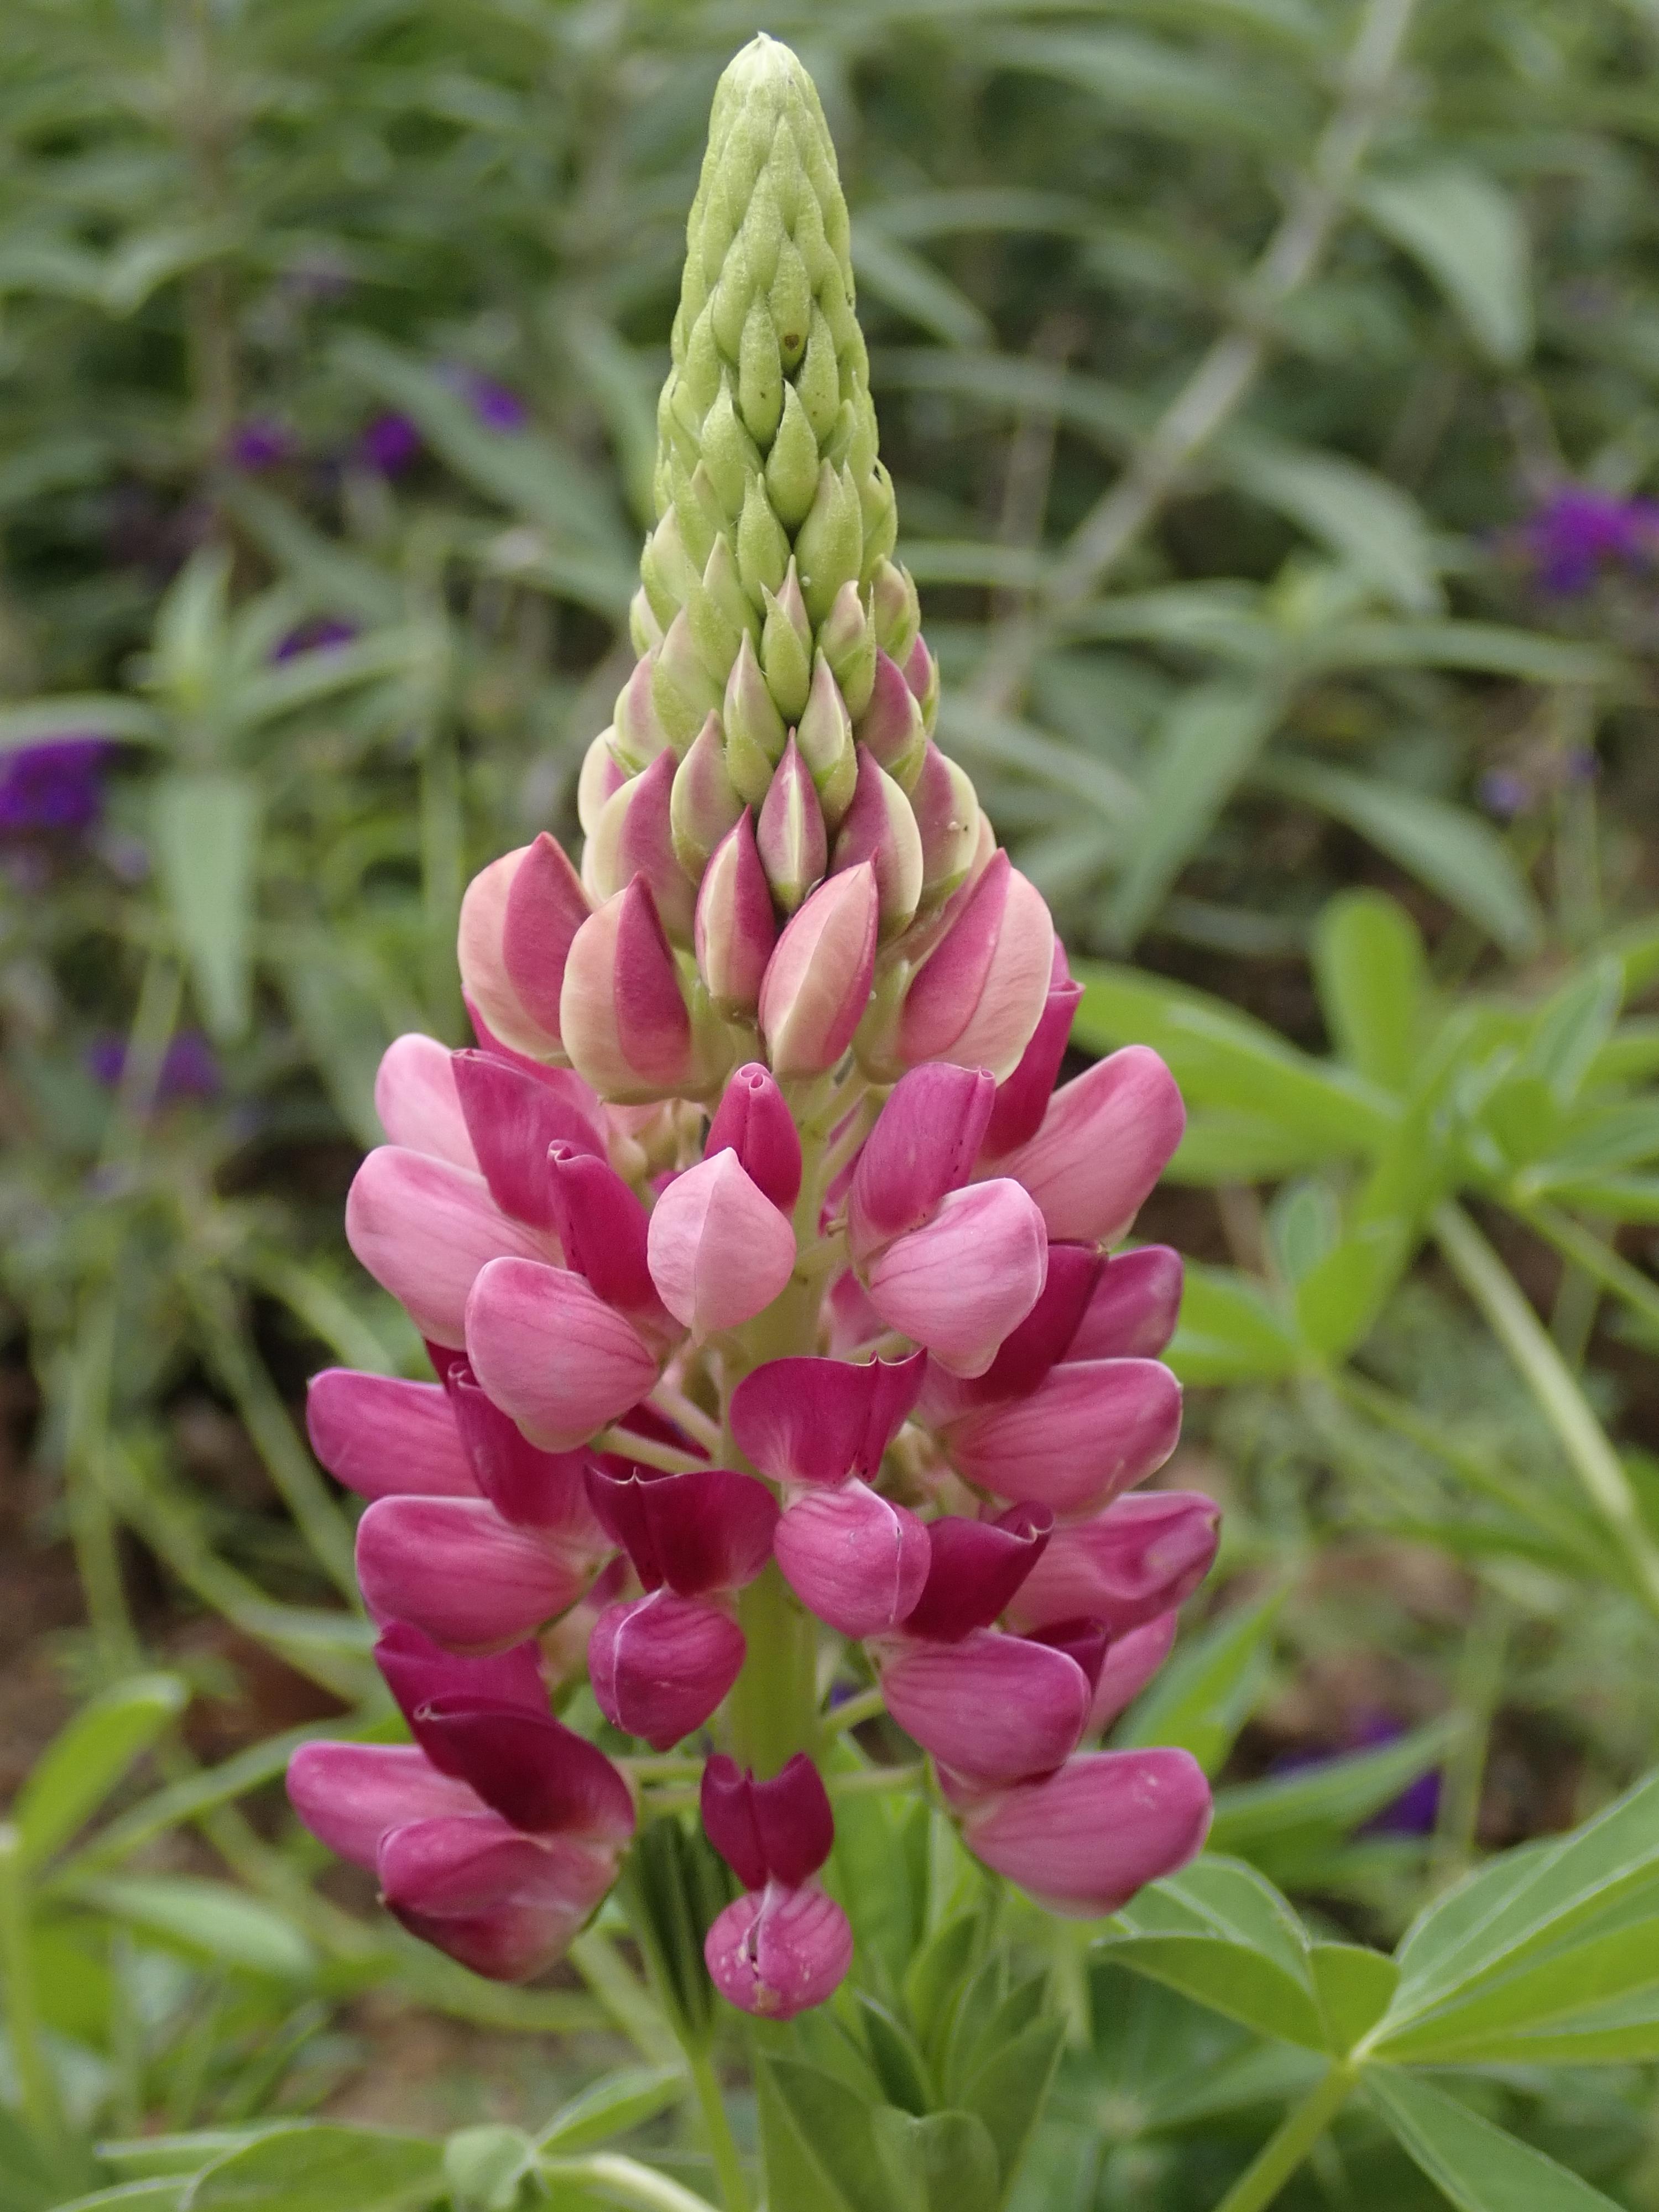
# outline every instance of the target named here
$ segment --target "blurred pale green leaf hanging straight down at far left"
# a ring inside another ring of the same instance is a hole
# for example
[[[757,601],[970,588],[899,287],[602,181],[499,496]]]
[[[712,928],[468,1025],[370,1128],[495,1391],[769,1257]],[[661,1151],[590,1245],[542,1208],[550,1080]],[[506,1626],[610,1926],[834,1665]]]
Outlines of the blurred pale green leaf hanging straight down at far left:
[[[259,785],[226,770],[161,776],[150,834],[201,1015],[215,1037],[241,1037],[252,1015]]]

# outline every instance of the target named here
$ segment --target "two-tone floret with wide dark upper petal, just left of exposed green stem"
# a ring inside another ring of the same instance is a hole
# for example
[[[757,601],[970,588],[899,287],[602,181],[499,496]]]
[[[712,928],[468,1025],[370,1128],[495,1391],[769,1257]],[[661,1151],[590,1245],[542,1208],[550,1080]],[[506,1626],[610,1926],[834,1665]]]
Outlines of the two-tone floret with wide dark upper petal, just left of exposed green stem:
[[[776,1502],[730,1467],[588,1478],[593,1511],[628,1553],[644,1597],[606,1606],[588,1639],[599,1710],[666,1752],[714,1712],[743,1666],[728,1595],[772,1557]]]

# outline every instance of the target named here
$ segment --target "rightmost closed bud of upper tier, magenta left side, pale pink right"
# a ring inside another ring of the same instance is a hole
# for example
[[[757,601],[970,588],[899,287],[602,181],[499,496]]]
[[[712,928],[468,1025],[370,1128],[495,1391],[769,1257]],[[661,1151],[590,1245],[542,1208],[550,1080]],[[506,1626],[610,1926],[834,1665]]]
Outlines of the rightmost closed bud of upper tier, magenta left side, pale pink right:
[[[1048,998],[1053,947],[1042,891],[998,852],[909,987],[898,1026],[905,1066],[953,1060],[991,1068],[998,1082],[1013,1075]]]

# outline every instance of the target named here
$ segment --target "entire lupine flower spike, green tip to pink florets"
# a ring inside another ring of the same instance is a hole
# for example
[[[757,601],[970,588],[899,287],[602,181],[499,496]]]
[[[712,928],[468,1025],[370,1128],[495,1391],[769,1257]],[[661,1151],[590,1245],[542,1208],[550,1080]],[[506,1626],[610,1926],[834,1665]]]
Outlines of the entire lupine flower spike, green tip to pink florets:
[[[969,1851],[1060,1911],[1199,1849],[1192,1759],[1099,1734],[1217,1513],[1139,1489],[1181,1265],[1113,1250],[1181,1099],[1139,1046],[1055,1091],[1079,991],[933,739],[834,148],[770,38],[714,95],[657,420],[586,845],[476,878],[478,1044],[389,1048],[347,1203],[436,1380],[312,1385],[414,1741],[312,1743],[290,1794],[511,1980],[675,1816],[684,1745],[743,1891],[708,1971],[787,2020],[854,1947],[821,1688],[874,1674]],[[582,1677],[606,1750],[551,1717]]]

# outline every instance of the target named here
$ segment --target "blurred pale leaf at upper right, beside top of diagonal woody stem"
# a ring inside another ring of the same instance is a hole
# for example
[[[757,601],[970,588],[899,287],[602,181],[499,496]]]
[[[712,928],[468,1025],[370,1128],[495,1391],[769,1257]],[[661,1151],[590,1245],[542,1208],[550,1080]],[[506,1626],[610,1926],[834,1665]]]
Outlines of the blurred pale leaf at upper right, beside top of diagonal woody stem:
[[[1475,345],[1513,369],[1533,347],[1531,250],[1520,208],[1486,170],[1371,177],[1358,206],[1440,285]]]

